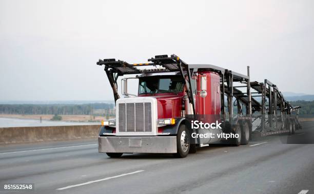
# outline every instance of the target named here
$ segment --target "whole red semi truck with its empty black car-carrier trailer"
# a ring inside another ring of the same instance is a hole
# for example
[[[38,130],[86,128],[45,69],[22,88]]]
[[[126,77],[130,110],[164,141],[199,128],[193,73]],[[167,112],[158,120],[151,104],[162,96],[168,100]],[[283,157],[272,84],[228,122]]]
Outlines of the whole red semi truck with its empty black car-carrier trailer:
[[[116,118],[103,120],[99,152],[110,157],[123,153],[172,153],[186,157],[197,147],[226,142],[247,144],[252,135],[293,134],[300,129],[298,113],[276,85],[251,82],[247,75],[210,64],[187,64],[176,55],[159,55],[146,63],[115,59],[104,65],[116,104]],[[117,80],[121,80],[122,94]],[[127,91],[128,79],[139,80],[138,95]],[[235,108],[235,109],[234,109]],[[293,114],[296,113],[296,114]],[[221,129],[191,129],[194,119],[221,123]],[[238,137],[192,137],[192,133],[232,133]]]

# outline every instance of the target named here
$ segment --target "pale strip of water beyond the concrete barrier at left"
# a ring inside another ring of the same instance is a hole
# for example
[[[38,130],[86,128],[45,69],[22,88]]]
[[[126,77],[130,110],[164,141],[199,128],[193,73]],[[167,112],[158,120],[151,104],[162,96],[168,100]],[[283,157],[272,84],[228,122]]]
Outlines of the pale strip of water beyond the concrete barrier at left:
[[[41,126],[73,126],[73,125],[100,125],[100,122],[63,122],[52,120],[34,120],[18,118],[0,118],[0,128],[2,127],[41,127]]]

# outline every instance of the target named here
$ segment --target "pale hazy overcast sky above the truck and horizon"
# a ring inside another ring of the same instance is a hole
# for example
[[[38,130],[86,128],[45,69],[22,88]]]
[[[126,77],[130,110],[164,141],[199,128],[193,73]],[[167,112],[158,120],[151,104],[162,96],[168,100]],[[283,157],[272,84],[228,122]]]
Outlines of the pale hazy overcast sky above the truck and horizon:
[[[242,74],[249,65],[252,81],[314,94],[313,8],[314,1],[0,0],[0,101],[113,100],[98,59],[141,63],[162,54]]]

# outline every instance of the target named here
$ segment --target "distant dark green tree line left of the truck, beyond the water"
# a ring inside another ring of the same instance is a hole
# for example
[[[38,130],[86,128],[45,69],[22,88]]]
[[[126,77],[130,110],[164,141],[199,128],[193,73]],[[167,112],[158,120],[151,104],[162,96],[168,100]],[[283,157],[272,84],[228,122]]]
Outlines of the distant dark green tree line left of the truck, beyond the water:
[[[92,114],[95,109],[112,109],[113,104],[93,103],[82,105],[34,105],[34,104],[2,104],[0,114]]]

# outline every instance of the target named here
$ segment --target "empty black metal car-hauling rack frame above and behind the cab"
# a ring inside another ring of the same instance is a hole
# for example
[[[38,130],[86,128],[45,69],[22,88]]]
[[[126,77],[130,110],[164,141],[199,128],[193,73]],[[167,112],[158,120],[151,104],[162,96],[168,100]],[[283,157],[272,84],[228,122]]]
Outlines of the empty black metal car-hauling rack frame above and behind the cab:
[[[120,95],[117,92],[117,79],[119,76],[131,74],[151,74],[154,72],[180,72],[181,78],[185,82],[186,93],[189,102],[192,104],[193,115],[196,117],[195,101],[191,89],[191,79],[192,76],[195,75],[195,72],[198,72],[199,70],[210,70],[216,72],[220,76],[221,115],[226,126],[233,128],[239,119],[244,119],[249,122],[251,133],[252,122],[254,122],[254,120],[257,118],[261,118],[261,126],[256,130],[256,132],[259,132],[261,136],[288,132],[288,130],[284,130],[285,124],[287,125],[286,120],[289,120],[288,122],[292,122],[293,120],[294,123],[300,126],[298,121],[298,113],[301,107],[292,107],[289,102],[285,100],[278,87],[269,80],[265,79],[263,83],[256,81],[252,82],[250,80],[249,66],[247,66],[247,75],[243,75],[238,72],[211,64],[187,64],[176,55],[171,55],[170,57],[168,57],[168,55],[157,55],[154,58],[148,59],[147,63],[129,64],[122,60],[100,59],[96,64],[105,65],[104,70],[112,87],[115,102],[120,98]],[[143,66],[150,66],[155,68],[138,68]],[[234,83],[241,83],[244,85],[234,86]],[[246,88],[246,92],[242,92],[238,89],[241,87]],[[251,92],[251,89],[256,90],[256,92]],[[259,95],[252,95],[252,93]],[[227,96],[226,102],[225,95]],[[256,97],[261,97],[261,103],[255,99]],[[235,102],[237,102],[238,108],[237,116],[235,118],[233,114],[233,98],[235,99]],[[226,114],[225,103],[227,103],[228,114]],[[243,112],[242,105],[244,105],[246,108],[245,114]],[[280,112],[281,123],[283,123],[281,127],[278,127],[278,111]],[[256,112],[259,114],[253,115],[253,113]],[[293,112],[297,112],[297,115],[292,117],[289,116],[289,118],[286,119],[286,115],[291,115]],[[234,120],[236,120],[235,123]]]

